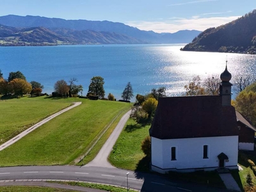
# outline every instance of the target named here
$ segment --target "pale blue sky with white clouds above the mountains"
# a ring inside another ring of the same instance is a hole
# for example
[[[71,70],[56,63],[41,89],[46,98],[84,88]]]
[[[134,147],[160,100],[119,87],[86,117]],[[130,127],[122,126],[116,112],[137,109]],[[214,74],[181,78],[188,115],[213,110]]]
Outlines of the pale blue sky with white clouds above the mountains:
[[[255,0],[0,0],[0,16],[109,20],[157,33],[204,31],[255,8]]]

